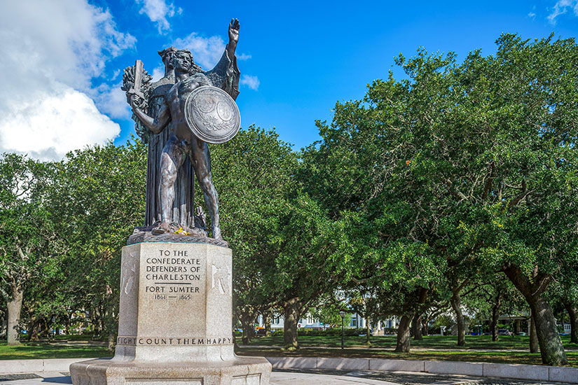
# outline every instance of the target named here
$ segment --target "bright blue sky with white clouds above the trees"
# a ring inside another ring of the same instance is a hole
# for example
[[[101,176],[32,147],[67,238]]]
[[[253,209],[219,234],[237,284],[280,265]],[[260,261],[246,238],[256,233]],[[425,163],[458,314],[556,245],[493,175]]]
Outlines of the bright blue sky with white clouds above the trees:
[[[296,150],[319,139],[315,120],[331,120],[336,101],[363,97],[367,83],[390,69],[401,77],[393,66],[399,52],[410,57],[423,46],[453,50],[461,60],[477,48],[493,54],[503,32],[523,38],[578,32],[578,0],[41,3],[0,5],[0,55],[8,57],[0,61],[0,81],[9,85],[0,91],[0,113],[8,116],[0,120],[0,151],[41,159],[106,139],[124,143],[134,129],[118,90],[121,70],[142,59],[158,77],[156,51],[170,45],[191,49],[210,69],[228,39],[230,18],[241,24],[242,126],[275,127]],[[29,25],[20,27],[20,18]],[[22,47],[42,70],[22,64],[30,61],[15,53]],[[15,103],[15,94],[25,103]],[[18,139],[24,134],[34,137],[32,144]]]

